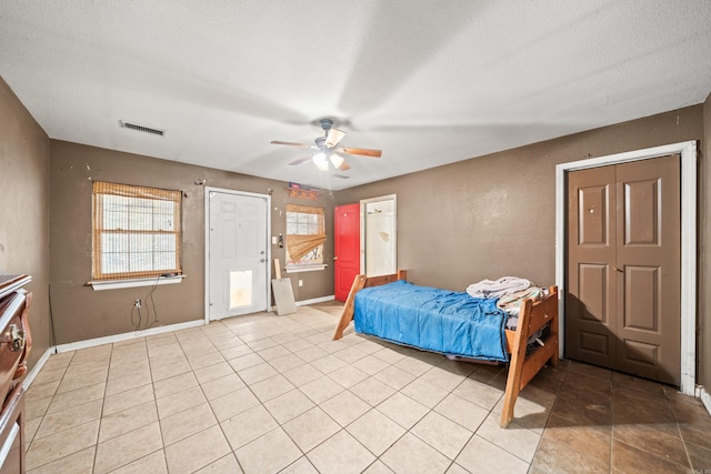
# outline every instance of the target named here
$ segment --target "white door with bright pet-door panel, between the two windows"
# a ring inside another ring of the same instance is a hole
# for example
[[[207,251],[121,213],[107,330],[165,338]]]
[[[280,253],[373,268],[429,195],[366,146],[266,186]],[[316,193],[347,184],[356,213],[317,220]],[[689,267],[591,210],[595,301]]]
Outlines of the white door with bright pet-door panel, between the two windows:
[[[209,319],[268,311],[269,196],[206,191]]]

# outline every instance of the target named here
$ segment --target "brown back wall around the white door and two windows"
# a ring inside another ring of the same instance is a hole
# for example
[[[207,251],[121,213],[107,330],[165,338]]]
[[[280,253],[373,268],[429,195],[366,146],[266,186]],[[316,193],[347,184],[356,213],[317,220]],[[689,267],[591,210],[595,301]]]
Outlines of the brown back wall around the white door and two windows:
[[[301,204],[287,196],[287,184],[279,181],[229,173],[166,160],[121,153],[63,141],[51,141],[51,208],[52,234],[50,280],[57,343],[83,341],[134,329],[131,310],[136,299],[146,299],[150,286],[93,291],[91,280],[91,183],[92,180],[183,190],[183,271],[181,284],[161,285],[153,293],[161,325],[204,317],[204,186],[206,185],[267,194],[273,190],[272,235],[286,234],[283,209],[287,202]],[[326,205],[327,229],[331,224],[332,205],[323,194],[314,205]],[[324,253],[330,261],[332,242]],[[284,250],[272,245],[272,258],[284,262]],[[290,274],[294,299],[311,300],[333,294],[333,271]],[[303,286],[297,280],[303,280]],[[152,305],[150,306],[152,310]],[[152,314],[151,314],[152,317]]]

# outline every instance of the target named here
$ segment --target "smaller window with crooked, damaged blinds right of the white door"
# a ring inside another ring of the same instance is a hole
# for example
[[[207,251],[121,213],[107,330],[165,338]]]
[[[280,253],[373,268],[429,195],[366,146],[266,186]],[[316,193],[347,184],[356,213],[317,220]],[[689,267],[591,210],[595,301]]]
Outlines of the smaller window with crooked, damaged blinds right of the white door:
[[[287,269],[322,266],[323,242],[323,209],[287,204]]]

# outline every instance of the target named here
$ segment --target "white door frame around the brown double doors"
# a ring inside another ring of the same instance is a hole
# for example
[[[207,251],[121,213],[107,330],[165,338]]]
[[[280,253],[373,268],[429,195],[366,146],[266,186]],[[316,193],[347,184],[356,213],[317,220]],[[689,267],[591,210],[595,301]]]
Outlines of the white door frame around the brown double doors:
[[[630,161],[649,160],[668,154],[681,155],[681,392],[695,396],[697,373],[697,142],[685,141],[668,145],[615,153],[588,160],[561,163],[555,167],[555,284],[565,292],[565,201],[567,173],[589,168],[607,167]],[[559,352],[565,347],[565,304],[559,305]]]

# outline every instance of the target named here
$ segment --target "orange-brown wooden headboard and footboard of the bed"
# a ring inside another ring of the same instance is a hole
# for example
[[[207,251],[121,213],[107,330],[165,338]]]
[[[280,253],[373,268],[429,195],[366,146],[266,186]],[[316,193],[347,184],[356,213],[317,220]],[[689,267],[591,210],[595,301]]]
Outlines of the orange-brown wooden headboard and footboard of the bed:
[[[398,280],[407,280],[407,271],[400,270],[392,275],[371,276],[357,275],[346,300],[343,314],[333,333],[333,340],[343,337],[343,331],[353,320],[356,293],[369,286],[382,285]],[[543,300],[525,300],[521,303],[519,323],[515,331],[505,330],[507,351],[511,354],[507,391],[501,413],[501,427],[509,426],[513,420],[513,405],[519,392],[533,379],[548,361],[558,364],[558,286],[551,286],[550,294]],[[548,336],[530,354],[525,353],[527,342],[538,330],[550,323]]]

